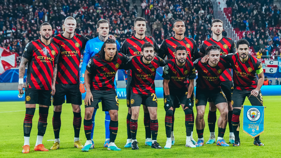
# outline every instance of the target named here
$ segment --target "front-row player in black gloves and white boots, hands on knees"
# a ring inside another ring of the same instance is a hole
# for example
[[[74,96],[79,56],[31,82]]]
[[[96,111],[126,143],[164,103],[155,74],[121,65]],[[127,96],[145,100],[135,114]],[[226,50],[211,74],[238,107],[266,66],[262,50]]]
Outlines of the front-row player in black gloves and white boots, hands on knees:
[[[194,123],[192,123],[192,110],[194,98],[194,79],[196,77],[195,67],[193,63],[187,59],[187,50],[185,46],[179,45],[176,47],[175,58],[167,62],[163,70],[162,77],[164,78],[164,108],[166,111],[165,128],[167,142],[165,149],[170,149],[172,146],[171,130],[174,100],[177,98],[185,113],[185,128],[186,128],[186,147],[195,148],[191,141],[191,132]],[[187,87],[187,78],[189,86]],[[189,105],[190,104],[190,105]]]

